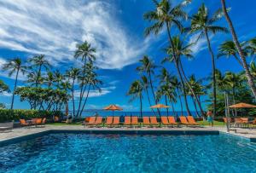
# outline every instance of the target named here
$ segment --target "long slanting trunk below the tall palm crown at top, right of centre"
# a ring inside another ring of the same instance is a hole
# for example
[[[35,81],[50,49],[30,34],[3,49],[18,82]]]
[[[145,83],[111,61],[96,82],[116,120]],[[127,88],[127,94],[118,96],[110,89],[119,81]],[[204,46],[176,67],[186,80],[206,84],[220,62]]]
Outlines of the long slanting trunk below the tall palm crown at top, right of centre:
[[[174,48],[173,48],[171,31],[170,31],[170,27],[169,27],[168,23],[166,23],[166,26],[167,26],[167,33],[168,33],[168,37],[169,37],[169,42],[170,42],[170,44],[172,46],[172,54],[173,54],[173,57],[174,57],[174,64],[176,66],[178,77],[179,77],[179,79],[181,81],[182,88],[183,88],[183,95],[184,95],[185,106],[186,106],[188,115],[191,115],[191,112],[189,111],[189,104],[188,104],[188,100],[187,100],[187,93],[186,93],[186,90],[185,90],[185,85],[184,85],[184,82],[183,82],[183,78],[182,78],[180,69],[179,69],[178,64],[177,64],[177,56],[176,56],[176,53],[175,53]]]

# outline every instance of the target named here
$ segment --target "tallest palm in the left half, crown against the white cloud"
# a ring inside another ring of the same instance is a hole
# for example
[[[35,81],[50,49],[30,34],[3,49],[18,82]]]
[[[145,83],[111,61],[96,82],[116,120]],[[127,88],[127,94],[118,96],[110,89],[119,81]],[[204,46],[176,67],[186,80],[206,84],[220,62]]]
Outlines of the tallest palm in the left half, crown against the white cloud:
[[[79,116],[82,99],[84,97],[83,91],[84,91],[84,87],[85,87],[86,64],[87,64],[87,61],[93,62],[96,60],[95,53],[96,53],[96,49],[92,48],[90,43],[88,43],[87,41],[85,41],[82,44],[78,44],[77,50],[74,53],[74,58],[76,58],[76,59],[81,58],[81,61],[84,63],[84,65],[82,66],[82,72],[81,72],[79,109],[77,112],[77,116]]]

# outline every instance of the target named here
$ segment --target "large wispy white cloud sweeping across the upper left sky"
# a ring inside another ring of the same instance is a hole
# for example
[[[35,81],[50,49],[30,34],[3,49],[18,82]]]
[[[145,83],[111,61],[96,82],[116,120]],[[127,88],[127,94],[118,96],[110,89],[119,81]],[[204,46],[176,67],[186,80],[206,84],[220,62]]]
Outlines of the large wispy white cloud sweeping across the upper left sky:
[[[120,69],[137,61],[148,41],[125,32],[106,1],[0,1],[0,48],[73,61],[76,43],[97,49],[97,65]]]

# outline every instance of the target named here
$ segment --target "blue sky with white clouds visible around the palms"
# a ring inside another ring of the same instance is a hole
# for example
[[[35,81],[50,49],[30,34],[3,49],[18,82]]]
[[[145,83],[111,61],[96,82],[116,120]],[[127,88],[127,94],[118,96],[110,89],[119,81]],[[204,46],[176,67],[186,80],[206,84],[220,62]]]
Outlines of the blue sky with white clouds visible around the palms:
[[[177,4],[178,0],[171,0]],[[206,3],[210,14],[221,8],[218,0],[192,0],[185,10],[195,14],[201,3]],[[256,24],[253,10],[256,1],[226,0],[230,17],[241,41],[255,37]],[[139,78],[136,67],[143,55],[148,55],[156,65],[166,56],[162,49],[167,45],[166,32],[144,37],[144,29],[149,26],[143,14],[154,9],[150,0],[0,0],[0,67],[9,59],[20,57],[26,61],[33,55],[44,54],[54,69],[65,72],[67,68],[79,66],[73,58],[77,43],[85,40],[96,48],[97,71],[103,81],[102,92],[92,91],[85,108],[94,109],[118,104],[125,111],[139,110],[139,102],[130,102],[126,95],[130,84]],[[189,26],[188,21],[183,21]],[[227,26],[220,20],[218,25]],[[210,35],[212,49],[217,54],[218,45],[230,40],[231,35]],[[195,41],[196,35],[185,37],[185,42]],[[187,76],[206,78],[211,74],[211,57],[206,39],[199,40],[192,48],[194,59],[183,60]],[[169,72],[177,74],[171,64],[164,65]],[[222,72],[240,72],[241,66],[232,58],[220,58],[216,66]],[[157,69],[156,71],[159,71]],[[156,72],[157,74],[157,72]],[[1,71],[0,79],[14,86],[14,77]],[[154,81],[156,78],[154,78]],[[26,75],[20,74],[18,86],[26,85]],[[157,83],[154,83],[157,88]],[[10,93],[0,95],[0,102],[9,107]],[[76,101],[77,102],[77,101]],[[204,107],[207,103],[204,103]],[[28,103],[20,102],[15,96],[15,108],[29,108]],[[175,104],[176,110],[180,105]],[[193,111],[192,101],[189,107]],[[146,95],[143,110],[148,111]]]

